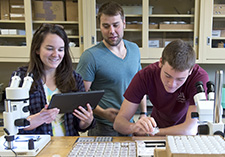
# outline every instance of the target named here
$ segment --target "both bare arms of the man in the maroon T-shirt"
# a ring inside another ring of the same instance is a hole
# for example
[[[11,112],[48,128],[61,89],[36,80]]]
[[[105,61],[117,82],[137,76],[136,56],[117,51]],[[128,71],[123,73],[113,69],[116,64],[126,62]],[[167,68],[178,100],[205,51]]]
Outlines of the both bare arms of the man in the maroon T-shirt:
[[[129,122],[137,108],[138,104],[125,99],[114,122],[114,129],[122,134],[151,134],[153,127],[157,126],[154,118],[142,117],[136,123]],[[198,124],[196,119],[191,118],[191,112],[196,112],[195,105],[189,106],[184,123],[172,127],[161,128],[157,135],[196,135]]]

